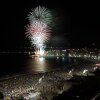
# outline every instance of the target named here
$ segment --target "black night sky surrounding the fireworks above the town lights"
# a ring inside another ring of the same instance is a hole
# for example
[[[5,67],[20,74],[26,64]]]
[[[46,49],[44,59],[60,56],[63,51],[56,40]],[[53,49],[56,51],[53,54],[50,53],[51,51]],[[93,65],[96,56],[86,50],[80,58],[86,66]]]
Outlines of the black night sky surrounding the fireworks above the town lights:
[[[66,1],[66,0],[65,0]],[[64,0],[3,0],[1,2],[0,49],[28,46],[25,38],[27,14],[38,5],[54,16],[48,44],[69,47],[100,48],[100,8],[98,2],[65,2]]]

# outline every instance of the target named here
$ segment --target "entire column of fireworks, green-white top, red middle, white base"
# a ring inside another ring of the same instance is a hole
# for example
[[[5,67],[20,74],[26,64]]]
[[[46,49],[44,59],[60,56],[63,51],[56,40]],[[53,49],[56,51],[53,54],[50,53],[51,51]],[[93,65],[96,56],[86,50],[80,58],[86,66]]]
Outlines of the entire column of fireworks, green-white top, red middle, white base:
[[[26,28],[26,36],[32,45],[40,48],[50,37],[49,25],[52,15],[48,9],[39,6],[30,12],[28,19],[29,25]]]

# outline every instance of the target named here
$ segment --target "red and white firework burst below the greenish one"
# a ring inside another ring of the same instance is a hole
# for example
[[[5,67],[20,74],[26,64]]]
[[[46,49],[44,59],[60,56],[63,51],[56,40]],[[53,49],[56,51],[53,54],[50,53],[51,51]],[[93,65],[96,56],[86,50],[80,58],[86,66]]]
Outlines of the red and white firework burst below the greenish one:
[[[37,21],[27,26],[26,34],[34,43],[36,41],[44,43],[50,37],[50,28],[45,23]]]

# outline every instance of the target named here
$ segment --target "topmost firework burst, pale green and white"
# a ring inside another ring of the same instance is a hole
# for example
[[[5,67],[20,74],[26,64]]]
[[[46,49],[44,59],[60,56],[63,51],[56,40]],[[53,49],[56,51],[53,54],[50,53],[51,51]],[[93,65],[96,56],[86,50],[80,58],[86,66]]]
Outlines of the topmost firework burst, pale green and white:
[[[43,23],[50,24],[52,20],[51,12],[45,7],[36,7],[32,9],[30,14],[28,15],[28,19],[30,23],[34,21],[42,21]]]

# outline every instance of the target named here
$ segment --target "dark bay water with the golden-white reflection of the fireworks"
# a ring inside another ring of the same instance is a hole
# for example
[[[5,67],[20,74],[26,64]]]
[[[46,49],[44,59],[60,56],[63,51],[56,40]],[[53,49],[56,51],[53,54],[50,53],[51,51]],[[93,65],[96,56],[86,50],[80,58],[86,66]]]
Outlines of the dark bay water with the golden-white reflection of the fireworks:
[[[0,76],[26,73],[47,72],[55,68],[64,68],[73,61],[68,57],[27,57],[18,54],[0,55]]]

